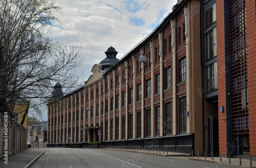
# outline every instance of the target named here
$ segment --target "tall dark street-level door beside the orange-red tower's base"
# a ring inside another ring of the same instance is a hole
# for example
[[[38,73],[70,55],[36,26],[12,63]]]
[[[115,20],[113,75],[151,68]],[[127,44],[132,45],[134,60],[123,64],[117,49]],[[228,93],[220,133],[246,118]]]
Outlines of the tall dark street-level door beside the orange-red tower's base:
[[[208,128],[208,156],[213,152],[214,156],[219,155],[219,122],[218,117],[207,117]]]

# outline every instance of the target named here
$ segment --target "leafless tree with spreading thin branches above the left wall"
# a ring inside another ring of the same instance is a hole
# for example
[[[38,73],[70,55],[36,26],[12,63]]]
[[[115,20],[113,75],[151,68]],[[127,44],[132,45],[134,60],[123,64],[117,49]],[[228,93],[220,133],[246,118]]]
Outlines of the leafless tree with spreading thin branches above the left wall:
[[[0,1],[0,113],[14,118],[17,102],[48,102],[57,82],[66,91],[78,85],[75,68],[81,65],[81,51],[60,47],[48,37],[52,23],[59,21],[60,8],[54,4]]]

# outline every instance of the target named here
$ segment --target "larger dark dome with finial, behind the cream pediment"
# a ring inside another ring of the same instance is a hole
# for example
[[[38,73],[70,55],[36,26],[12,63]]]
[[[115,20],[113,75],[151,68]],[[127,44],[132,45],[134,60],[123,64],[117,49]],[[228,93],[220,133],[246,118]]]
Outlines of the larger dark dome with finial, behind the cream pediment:
[[[119,61],[116,58],[117,53],[116,49],[112,46],[105,51],[106,58],[99,63],[102,66],[101,70],[109,69]]]

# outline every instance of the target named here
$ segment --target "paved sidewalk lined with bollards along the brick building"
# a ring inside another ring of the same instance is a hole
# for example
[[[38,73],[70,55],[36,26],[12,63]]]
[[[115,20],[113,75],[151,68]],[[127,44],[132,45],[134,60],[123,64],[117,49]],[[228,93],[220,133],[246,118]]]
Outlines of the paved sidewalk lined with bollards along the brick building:
[[[189,160],[197,160],[197,161],[205,161],[205,162],[212,162],[212,163],[219,163],[219,164],[228,164],[233,166],[241,166],[241,167],[251,167],[256,168],[256,161],[252,160],[252,166],[250,166],[250,159],[241,159],[241,165],[240,165],[240,159],[239,158],[230,158],[231,164],[229,164],[229,158],[222,157],[222,162],[220,162],[220,157],[214,157],[214,160],[212,160],[211,157],[191,157],[188,154],[184,153],[175,153],[175,152],[163,152],[163,151],[156,151],[156,150],[138,150],[138,149],[112,149],[112,148],[101,148],[102,150],[122,150],[127,152],[138,152],[138,153],[147,153],[147,154],[155,154],[155,155],[162,155],[162,156],[170,156],[170,157],[178,157],[181,159],[189,159]],[[160,153],[159,153],[160,152]],[[248,157],[249,158],[249,157]]]

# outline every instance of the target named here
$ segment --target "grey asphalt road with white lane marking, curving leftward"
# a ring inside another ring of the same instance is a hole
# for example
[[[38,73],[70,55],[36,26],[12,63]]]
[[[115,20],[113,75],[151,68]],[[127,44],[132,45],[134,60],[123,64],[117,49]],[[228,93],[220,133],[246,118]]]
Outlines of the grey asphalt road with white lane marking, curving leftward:
[[[234,167],[231,165],[188,160],[187,157],[166,157],[130,151],[44,148],[31,167]]]

